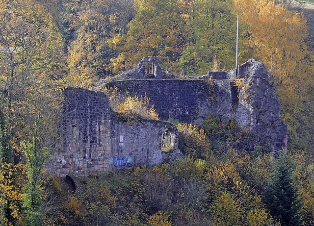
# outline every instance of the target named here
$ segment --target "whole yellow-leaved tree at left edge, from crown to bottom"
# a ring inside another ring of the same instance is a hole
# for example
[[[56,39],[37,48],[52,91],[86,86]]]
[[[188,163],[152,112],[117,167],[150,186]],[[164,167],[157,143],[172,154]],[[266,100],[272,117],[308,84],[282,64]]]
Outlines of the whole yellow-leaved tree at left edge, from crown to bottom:
[[[25,181],[22,175],[25,171],[18,170],[23,169],[22,156],[28,149],[33,150],[21,143],[31,144],[35,139],[34,149],[41,150],[41,147],[52,147],[57,137],[57,83],[63,67],[63,42],[51,14],[34,0],[1,1],[0,18],[1,113],[5,116],[5,128],[1,132],[10,138],[3,153],[8,159],[9,147],[14,157],[12,163],[1,162],[1,214],[2,206],[8,206],[10,211],[1,221],[3,225],[10,225],[21,217],[19,204],[23,200],[21,184]],[[2,138],[7,141],[5,136]],[[28,164],[29,161],[26,164],[28,185],[24,189],[24,211],[29,210],[27,192],[34,189],[33,177],[29,175],[38,172],[38,165],[43,165],[41,158],[36,161],[36,166]]]

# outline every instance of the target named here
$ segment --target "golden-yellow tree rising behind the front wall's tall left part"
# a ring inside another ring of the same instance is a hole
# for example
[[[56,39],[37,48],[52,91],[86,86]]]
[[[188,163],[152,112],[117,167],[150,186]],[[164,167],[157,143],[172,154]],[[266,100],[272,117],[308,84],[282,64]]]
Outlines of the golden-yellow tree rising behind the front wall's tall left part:
[[[71,41],[67,56],[67,82],[71,85],[91,87],[97,79],[111,75],[109,64],[115,52],[108,46],[107,40],[115,29],[125,32],[125,23],[131,14],[128,11],[129,1],[125,1],[124,5],[121,2],[71,0],[65,4],[62,19],[68,27],[68,41]],[[123,6],[121,11],[118,9],[120,5]],[[117,12],[121,15],[116,15]]]

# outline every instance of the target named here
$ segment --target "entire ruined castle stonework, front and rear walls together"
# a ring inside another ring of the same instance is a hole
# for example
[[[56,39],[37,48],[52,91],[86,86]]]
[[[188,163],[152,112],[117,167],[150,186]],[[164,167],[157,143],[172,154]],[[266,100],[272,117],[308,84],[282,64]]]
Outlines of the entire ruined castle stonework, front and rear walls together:
[[[146,76],[143,65],[149,59],[140,62],[138,78]],[[154,78],[160,78],[158,70]],[[239,80],[243,87],[236,85]],[[266,140],[270,151],[287,147],[279,100],[264,65],[254,59],[240,65],[238,73],[209,72],[189,80],[116,80],[106,85],[138,97],[146,94],[161,120],[200,126],[209,115],[221,115],[224,121],[234,118],[256,134],[256,145]],[[68,88],[64,95],[63,151],[51,157],[46,166],[50,172],[89,175],[138,164],[156,165],[181,155],[178,131],[172,124],[144,120],[126,125],[116,119],[105,93]]]

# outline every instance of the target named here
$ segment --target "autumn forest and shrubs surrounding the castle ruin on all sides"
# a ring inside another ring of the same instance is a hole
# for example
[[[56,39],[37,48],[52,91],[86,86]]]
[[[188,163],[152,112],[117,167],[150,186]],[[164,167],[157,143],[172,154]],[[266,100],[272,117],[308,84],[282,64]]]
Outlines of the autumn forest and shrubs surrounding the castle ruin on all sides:
[[[313,18],[294,3],[0,0],[0,225],[314,225]],[[239,63],[267,67],[288,152],[247,153],[247,131],[209,117],[178,125],[184,162],[81,178],[76,193],[45,175],[64,88],[149,55],[181,77],[234,69],[237,14]]]

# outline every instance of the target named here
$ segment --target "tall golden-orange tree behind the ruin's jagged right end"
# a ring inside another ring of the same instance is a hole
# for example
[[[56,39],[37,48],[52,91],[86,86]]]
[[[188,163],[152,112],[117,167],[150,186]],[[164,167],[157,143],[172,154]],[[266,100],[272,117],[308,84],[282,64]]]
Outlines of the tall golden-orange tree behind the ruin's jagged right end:
[[[276,0],[235,0],[251,57],[265,63],[281,100],[289,147],[313,150],[313,60],[306,20]]]

